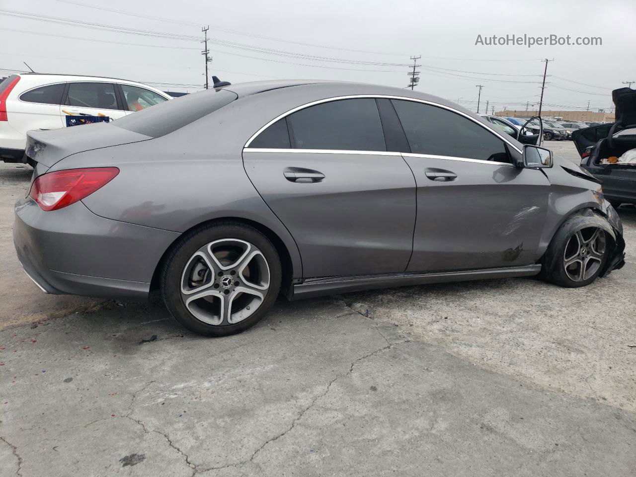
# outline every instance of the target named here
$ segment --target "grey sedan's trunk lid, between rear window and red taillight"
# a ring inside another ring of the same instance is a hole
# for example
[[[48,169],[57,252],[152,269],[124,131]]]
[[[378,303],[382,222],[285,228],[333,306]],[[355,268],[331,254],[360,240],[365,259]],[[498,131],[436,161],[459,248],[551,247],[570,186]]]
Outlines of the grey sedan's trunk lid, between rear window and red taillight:
[[[109,123],[95,123],[55,130],[27,132],[27,158],[47,168],[65,157],[83,151],[109,148],[130,142],[148,141],[149,136],[114,127]]]

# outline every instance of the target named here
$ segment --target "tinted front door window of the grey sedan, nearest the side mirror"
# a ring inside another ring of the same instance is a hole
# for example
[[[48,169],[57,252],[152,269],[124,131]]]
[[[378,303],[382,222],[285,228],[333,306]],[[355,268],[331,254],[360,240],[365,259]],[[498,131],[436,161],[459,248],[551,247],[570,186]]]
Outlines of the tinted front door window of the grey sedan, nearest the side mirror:
[[[504,142],[464,116],[414,101],[392,102],[411,152],[509,162]]]

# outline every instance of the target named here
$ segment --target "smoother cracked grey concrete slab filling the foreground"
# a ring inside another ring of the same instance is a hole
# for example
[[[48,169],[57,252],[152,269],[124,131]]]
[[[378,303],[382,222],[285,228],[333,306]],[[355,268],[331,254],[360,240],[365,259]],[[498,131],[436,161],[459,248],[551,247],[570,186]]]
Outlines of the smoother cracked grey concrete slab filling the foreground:
[[[633,475],[633,413],[337,298],[218,340],[166,318],[115,305],[4,331],[0,475]]]

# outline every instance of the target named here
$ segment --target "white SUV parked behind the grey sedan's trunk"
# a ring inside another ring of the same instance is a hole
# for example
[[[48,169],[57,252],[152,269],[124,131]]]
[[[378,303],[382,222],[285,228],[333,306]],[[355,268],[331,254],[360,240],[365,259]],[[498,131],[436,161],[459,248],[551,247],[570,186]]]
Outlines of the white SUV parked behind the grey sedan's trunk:
[[[125,79],[11,75],[0,83],[0,160],[23,162],[28,130],[112,121],[168,99]]]

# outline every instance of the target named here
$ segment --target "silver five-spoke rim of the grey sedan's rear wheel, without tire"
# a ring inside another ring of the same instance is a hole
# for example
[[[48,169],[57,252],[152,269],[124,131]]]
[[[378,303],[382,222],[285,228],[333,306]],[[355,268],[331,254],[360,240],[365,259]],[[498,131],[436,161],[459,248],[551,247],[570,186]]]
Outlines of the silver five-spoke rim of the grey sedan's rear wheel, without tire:
[[[235,324],[265,300],[270,268],[257,247],[245,240],[214,240],[196,251],[181,273],[181,299],[198,320]]]

